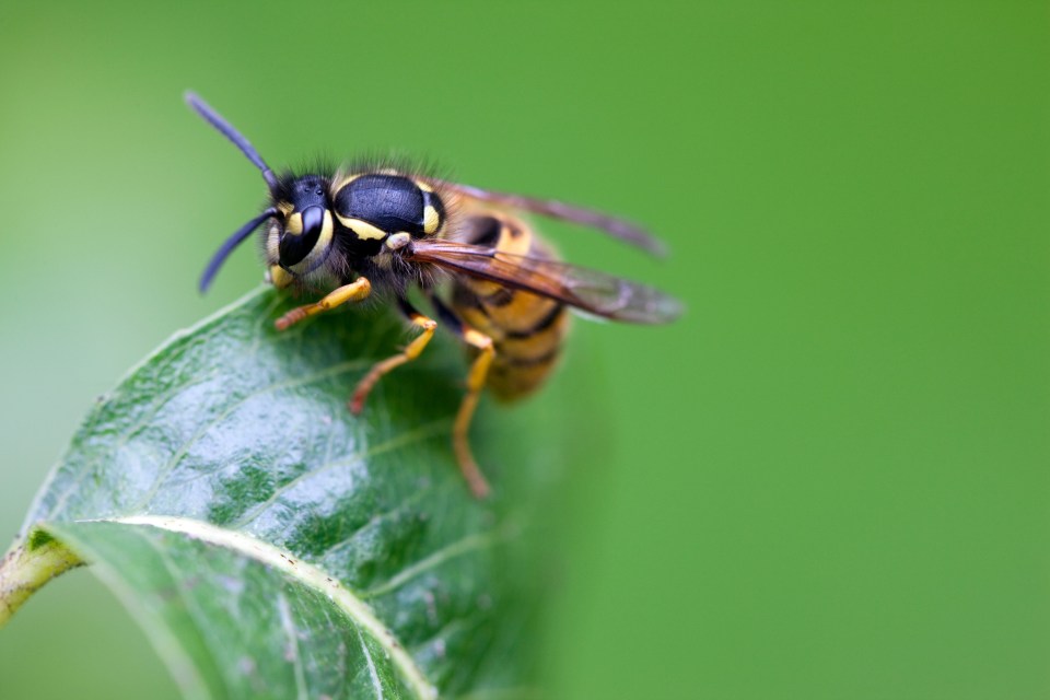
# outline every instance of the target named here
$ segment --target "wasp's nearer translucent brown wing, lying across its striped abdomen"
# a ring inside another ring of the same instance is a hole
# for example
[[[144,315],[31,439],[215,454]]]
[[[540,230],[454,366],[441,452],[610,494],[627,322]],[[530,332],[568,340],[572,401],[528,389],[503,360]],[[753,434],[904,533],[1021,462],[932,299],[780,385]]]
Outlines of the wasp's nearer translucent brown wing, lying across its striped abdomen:
[[[557,260],[499,253],[453,241],[413,241],[406,257],[446,270],[539,294],[614,320],[662,324],[681,314],[681,304],[652,287]]]

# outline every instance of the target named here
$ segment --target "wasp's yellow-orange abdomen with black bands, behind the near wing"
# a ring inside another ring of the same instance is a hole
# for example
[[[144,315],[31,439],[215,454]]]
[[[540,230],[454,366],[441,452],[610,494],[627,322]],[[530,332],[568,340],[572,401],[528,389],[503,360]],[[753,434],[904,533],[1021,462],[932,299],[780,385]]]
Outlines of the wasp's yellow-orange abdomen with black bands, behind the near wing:
[[[475,217],[465,226],[465,242],[501,253],[551,258],[551,253],[524,223],[509,217]],[[503,284],[457,279],[452,304],[470,326],[492,338],[495,358],[488,387],[511,400],[538,388],[553,370],[569,327],[561,302]]]

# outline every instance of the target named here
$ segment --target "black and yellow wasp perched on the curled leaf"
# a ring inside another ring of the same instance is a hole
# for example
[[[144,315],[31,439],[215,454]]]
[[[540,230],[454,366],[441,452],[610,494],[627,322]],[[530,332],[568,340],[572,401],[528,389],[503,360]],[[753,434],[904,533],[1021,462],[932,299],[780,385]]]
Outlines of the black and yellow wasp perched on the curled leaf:
[[[354,415],[383,375],[420,355],[440,319],[470,358],[452,443],[477,498],[489,493],[467,439],[480,393],[488,387],[498,398],[513,400],[539,387],[561,352],[569,307],[639,324],[667,323],[681,311],[676,300],[651,287],[559,261],[523,215],[599,229],[662,254],[657,240],[629,222],[375,164],[275,174],[203,100],[187,93],[186,101],[262,173],[269,190],[268,206],[215,252],[200,291],[207,291],[230,253],[260,229],[266,281],[277,289],[323,294],[278,318],[278,330],[370,295],[396,303],[418,335],[360,380],[349,401]],[[436,319],[408,301],[413,288]]]

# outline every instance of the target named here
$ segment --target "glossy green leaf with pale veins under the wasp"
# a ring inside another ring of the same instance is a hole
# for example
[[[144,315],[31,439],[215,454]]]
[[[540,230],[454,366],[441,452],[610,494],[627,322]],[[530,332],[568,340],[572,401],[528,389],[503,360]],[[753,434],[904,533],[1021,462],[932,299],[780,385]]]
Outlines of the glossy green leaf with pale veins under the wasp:
[[[192,698],[522,682],[529,518],[520,479],[482,462],[495,497],[479,502],[456,467],[458,349],[432,343],[355,419],[349,392],[404,325],[357,311],[277,332],[288,305],[257,291],[100,399],[0,567],[0,602],[89,561]]]

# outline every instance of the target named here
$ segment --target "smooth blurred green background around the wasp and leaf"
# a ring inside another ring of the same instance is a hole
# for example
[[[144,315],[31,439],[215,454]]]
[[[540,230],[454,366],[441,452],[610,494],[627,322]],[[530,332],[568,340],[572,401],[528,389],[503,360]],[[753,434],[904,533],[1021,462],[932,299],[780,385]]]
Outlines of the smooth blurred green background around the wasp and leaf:
[[[275,165],[396,147],[670,244],[549,228],[689,308],[578,324],[612,459],[553,515],[552,697],[1050,697],[1048,78],[1046,2],[2,2],[0,532],[260,279],[195,291],[262,184],[192,88]],[[0,630],[4,700],[174,695],[86,571]]]

